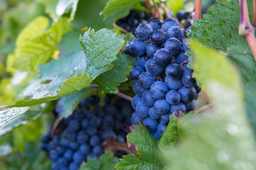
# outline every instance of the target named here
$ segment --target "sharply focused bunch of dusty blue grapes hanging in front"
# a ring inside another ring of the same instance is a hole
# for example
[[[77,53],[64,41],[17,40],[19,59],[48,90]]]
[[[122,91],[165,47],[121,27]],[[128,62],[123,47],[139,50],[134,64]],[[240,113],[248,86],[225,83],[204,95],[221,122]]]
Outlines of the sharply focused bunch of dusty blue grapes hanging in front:
[[[161,138],[170,114],[195,110],[201,87],[192,77],[193,69],[187,67],[188,45],[182,43],[183,30],[175,18],[162,21],[152,18],[148,24],[140,24],[136,38],[126,48],[136,58],[136,66],[130,71],[134,113],[132,124],[139,119],[156,138]]]

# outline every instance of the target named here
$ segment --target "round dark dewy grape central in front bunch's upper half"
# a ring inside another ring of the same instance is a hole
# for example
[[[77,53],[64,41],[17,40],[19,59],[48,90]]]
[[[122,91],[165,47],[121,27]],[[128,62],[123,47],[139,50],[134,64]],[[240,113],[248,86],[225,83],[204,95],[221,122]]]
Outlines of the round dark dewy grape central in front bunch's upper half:
[[[164,67],[172,62],[172,55],[165,48],[161,48],[154,54],[154,60],[157,65]]]

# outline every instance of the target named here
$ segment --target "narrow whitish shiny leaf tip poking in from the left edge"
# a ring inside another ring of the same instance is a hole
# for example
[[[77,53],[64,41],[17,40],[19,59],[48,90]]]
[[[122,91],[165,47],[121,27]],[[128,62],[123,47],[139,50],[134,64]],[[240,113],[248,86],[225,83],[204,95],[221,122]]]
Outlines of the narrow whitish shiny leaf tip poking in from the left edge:
[[[2,127],[4,124],[9,122],[15,117],[18,117],[19,115],[22,115],[26,111],[29,110],[29,107],[22,107],[22,108],[10,108],[7,110],[0,111],[0,127]]]

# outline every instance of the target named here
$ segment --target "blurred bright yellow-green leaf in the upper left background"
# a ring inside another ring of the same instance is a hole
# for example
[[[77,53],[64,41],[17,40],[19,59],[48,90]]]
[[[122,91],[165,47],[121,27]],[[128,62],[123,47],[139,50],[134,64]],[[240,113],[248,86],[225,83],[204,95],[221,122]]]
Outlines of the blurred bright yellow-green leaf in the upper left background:
[[[9,71],[37,70],[40,64],[51,60],[63,34],[70,31],[71,27],[67,18],[60,18],[45,32],[48,25],[47,18],[39,17],[25,27],[17,39],[15,52],[8,57]]]

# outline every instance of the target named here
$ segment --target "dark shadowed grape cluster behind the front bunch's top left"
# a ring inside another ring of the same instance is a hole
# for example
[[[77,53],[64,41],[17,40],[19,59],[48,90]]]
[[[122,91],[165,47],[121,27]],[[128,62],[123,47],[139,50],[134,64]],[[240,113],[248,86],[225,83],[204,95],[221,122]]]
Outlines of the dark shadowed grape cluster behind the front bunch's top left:
[[[131,10],[127,17],[121,18],[116,22],[116,25],[124,28],[128,32],[135,33],[136,28],[142,21],[147,21],[149,19],[147,13],[138,12]]]

